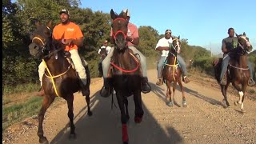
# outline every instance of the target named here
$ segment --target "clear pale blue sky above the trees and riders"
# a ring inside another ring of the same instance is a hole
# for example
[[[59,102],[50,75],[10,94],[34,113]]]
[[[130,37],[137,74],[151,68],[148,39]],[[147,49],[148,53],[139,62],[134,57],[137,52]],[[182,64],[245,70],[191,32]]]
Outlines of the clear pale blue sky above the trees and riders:
[[[187,38],[189,45],[210,47],[222,53],[221,42],[234,27],[238,34],[246,32],[256,48],[255,0],[81,0],[82,8],[118,14],[130,10],[130,22],[136,26],[152,26],[163,34],[172,30],[175,36]]]

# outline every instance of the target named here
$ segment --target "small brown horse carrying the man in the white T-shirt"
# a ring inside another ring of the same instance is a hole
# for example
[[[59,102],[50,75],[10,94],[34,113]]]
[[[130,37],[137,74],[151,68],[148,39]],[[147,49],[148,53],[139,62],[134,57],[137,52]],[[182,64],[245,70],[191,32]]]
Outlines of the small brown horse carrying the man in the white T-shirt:
[[[181,87],[182,90],[182,106],[186,107],[186,98],[182,86],[181,76],[182,76],[182,69],[178,66],[177,61],[177,53],[179,53],[181,47],[181,42],[178,38],[174,38],[173,43],[170,46],[168,57],[166,58],[167,62],[162,70],[162,78],[163,81],[166,83],[166,100],[169,102],[166,102],[168,106],[173,106],[173,100],[171,98],[171,90],[170,90],[170,83],[174,82],[173,84],[173,93],[175,94],[176,85],[178,82],[178,85]],[[174,97],[173,94],[173,97]]]

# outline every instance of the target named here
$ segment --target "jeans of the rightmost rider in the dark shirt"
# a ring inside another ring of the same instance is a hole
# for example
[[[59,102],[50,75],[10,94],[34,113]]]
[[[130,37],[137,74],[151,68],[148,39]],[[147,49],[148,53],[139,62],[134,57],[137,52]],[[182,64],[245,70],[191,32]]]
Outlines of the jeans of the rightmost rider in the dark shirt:
[[[221,75],[220,75],[220,81],[222,80],[224,74],[226,73],[227,66],[229,65],[229,62],[230,62],[230,55],[226,54],[226,56],[222,60],[222,72],[221,72]],[[249,67],[249,70],[250,70],[250,78],[253,78],[254,69],[253,69],[249,59],[247,59],[247,66]]]

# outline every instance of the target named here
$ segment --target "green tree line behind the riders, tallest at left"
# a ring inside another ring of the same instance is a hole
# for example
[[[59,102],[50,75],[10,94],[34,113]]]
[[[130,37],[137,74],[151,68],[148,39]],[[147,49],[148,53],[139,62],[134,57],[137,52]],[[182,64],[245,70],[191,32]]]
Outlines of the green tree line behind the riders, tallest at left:
[[[70,11],[70,20],[80,26],[84,34],[84,45],[79,54],[89,63],[92,78],[98,75],[98,49],[110,35],[110,14],[80,8],[79,0],[10,0],[2,1],[2,84],[17,86],[24,83],[38,83],[38,65],[41,60],[30,56],[28,46],[30,34],[36,28],[34,19],[42,24],[53,20],[57,25],[59,11]],[[134,20],[135,21],[135,20]],[[167,29],[167,28],[166,28]],[[157,61],[160,52],[154,50],[159,34],[152,26],[139,26],[140,44],[138,49],[150,62]],[[189,46],[188,39],[182,38],[182,57],[190,59],[210,58],[210,51],[200,46]]]

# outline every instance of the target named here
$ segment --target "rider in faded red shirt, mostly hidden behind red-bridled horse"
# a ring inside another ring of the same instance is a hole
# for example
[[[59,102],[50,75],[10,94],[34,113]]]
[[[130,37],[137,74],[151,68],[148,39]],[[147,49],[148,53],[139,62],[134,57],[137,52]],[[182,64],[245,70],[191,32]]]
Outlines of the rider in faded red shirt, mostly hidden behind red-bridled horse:
[[[142,69],[142,92],[144,94],[149,93],[151,87],[148,83],[148,78],[146,74],[146,57],[136,49],[134,46],[138,46],[139,43],[139,36],[138,36],[138,28],[133,23],[130,23],[130,12],[126,10],[122,10],[122,13],[127,14],[126,21],[128,22],[128,31],[127,31],[127,45],[128,47],[133,50],[134,54],[138,54],[140,62],[141,62],[141,69]],[[110,42],[114,44],[113,32],[110,31]],[[106,58],[102,61],[102,68],[103,68],[103,77],[104,77],[104,88],[102,89],[102,97],[107,97],[110,95],[110,80],[107,78],[107,73],[110,68],[110,58],[113,55],[113,49],[110,50],[110,53],[106,56]]]

